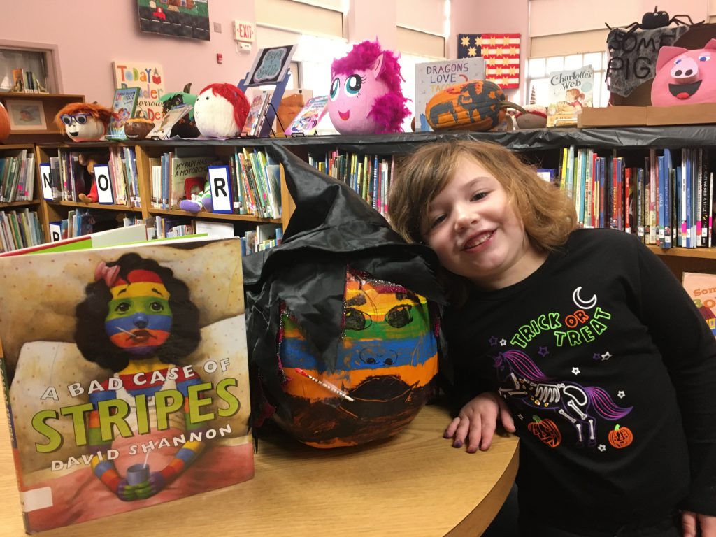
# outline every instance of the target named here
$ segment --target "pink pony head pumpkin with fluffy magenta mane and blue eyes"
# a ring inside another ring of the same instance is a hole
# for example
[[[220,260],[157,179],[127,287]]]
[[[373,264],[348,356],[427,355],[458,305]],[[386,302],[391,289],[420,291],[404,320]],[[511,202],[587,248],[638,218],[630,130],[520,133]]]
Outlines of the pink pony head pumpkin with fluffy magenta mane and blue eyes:
[[[398,58],[377,41],[355,44],[331,64],[328,114],[341,134],[402,132],[410,115],[402,95]]]

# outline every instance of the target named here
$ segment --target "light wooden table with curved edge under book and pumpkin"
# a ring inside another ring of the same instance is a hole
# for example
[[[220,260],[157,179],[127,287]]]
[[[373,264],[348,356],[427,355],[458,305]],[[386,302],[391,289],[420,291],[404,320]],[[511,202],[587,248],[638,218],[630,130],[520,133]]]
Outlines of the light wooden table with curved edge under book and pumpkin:
[[[24,526],[0,397],[0,536]],[[173,502],[40,533],[72,536],[480,535],[507,496],[516,437],[470,455],[442,438],[448,412],[430,405],[397,436],[359,448],[316,450],[284,435],[262,440],[256,476]]]

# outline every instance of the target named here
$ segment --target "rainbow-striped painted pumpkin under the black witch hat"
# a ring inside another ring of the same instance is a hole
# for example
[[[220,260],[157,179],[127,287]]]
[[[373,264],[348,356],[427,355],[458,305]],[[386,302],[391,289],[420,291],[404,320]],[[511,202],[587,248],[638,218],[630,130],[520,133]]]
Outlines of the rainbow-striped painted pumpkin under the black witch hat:
[[[334,448],[395,435],[432,393],[435,325],[426,299],[403,286],[349,269],[343,336],[331,371],[285,308],[281,325],[279,356],[292,415],[274,420],[301,442]]]

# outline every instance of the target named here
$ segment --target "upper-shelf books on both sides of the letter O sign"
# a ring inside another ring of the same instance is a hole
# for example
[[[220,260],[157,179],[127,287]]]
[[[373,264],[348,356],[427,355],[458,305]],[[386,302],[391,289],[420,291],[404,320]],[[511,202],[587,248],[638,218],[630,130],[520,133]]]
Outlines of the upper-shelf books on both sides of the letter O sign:
[[[52,186],[52,200],[79,201],[80,195],[87,195],[95,180],[87,167],[92,163],[99,169],[100,162],[107,162],[107,180],[112,192],[112,203],[139,207],[137,157],[134,147],[110,147],[107,153],[92,155],[74,150],[57,150],[57,157],[49,158],[49,177],[43,174],[42,178],[43,181],[49,180]]]

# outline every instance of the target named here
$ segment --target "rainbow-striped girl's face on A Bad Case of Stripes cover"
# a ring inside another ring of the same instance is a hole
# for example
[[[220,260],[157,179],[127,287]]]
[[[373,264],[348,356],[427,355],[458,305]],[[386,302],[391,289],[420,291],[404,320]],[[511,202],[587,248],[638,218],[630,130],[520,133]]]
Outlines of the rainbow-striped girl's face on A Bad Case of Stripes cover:
[[[167,341],[172,329],[169,292],[150,271],[131,271],[110,288],[105,330],[112,343],[133,354],[149,354]]]

